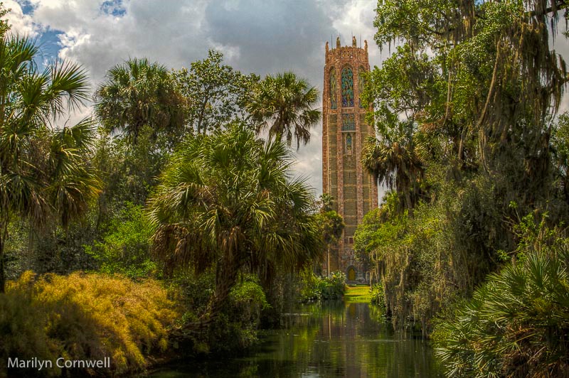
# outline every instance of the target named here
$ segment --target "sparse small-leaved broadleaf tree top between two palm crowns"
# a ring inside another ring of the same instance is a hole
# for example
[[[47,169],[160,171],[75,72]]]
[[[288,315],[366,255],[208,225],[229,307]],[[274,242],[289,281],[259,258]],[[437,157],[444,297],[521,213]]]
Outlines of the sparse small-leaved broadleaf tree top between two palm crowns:
[[[184,96],[186,127],[196,134],[213,132],[248,116],[245,105],[260,78],[243,75],[222,63],[223,54],[209,50],[208,58],[191,63],[189,70],[173,73]]]

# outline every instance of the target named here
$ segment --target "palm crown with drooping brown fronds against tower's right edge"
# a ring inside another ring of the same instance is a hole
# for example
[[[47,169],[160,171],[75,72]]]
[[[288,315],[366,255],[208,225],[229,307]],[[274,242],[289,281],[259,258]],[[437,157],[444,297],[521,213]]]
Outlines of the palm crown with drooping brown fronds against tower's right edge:
[[[376,180],[384,182],[390,189],[395,188],[404,209],[411,209],[420,195],[425,167],[416,151],[413,123],[399,126],[394,136],[385,136],[381,141],[369,136],[362,161]]]

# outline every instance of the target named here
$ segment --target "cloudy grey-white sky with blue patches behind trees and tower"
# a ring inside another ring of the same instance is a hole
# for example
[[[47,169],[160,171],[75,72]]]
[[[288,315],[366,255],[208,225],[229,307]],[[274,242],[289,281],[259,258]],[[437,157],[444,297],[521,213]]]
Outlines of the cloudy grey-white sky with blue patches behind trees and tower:
[[[147,57],[179,69],[206,58],[210,48],[225,63],[258,75],[292,70],[322,89],[324,44],[368,40],[370,64],[383,55],[373,43],[377,0],[1,0],[11,9],[12,31],[35,36],[43,60],[75,60],[90,72],[93,89],[107,69]],[[569,51],[565,38],[555,48]],[[567,59],[567,54],[565,58]],[[563,109],[569,98],[565,96]],[[80,119],[88,114],[76,114]],[[297,153],[297,172],[321,193],[321,126]]]

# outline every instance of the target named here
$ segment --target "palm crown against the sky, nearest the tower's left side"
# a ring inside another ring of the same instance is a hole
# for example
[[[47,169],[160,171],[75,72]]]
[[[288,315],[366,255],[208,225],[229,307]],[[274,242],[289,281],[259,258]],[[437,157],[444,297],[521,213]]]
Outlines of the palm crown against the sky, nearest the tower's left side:
[[[268,127],[270,138],[286,138],[289,146],[294,135],[299,148],[300,141],[309,142],[310,128],[320,120],[320,111],[313,109],[318,97],[315,87],[292,72],[269,75],[260,83],[248,111],[257,133]]]

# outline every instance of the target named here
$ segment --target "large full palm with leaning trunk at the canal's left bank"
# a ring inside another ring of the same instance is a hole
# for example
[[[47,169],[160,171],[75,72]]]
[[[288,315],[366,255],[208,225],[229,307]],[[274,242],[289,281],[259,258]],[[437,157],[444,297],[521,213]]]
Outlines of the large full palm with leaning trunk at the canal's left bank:
[[[166,273],[216,269],[203,326],[223,307],[240,269],[300,269],[321,253],[312,193],[291,180],[281,141],[256,139],[242,124],[198,136],[174,155],[149,200],[154,252]]]

